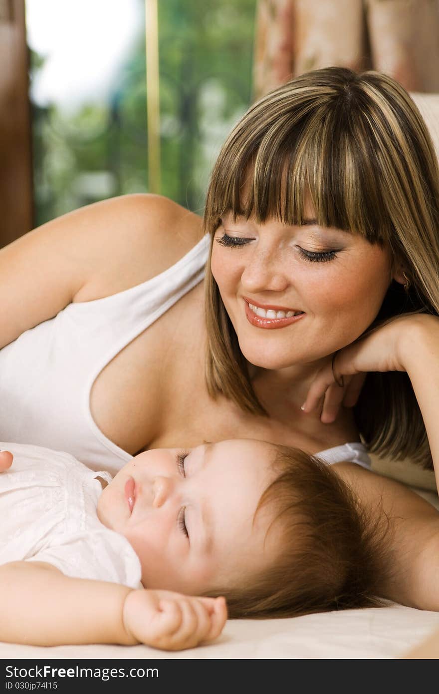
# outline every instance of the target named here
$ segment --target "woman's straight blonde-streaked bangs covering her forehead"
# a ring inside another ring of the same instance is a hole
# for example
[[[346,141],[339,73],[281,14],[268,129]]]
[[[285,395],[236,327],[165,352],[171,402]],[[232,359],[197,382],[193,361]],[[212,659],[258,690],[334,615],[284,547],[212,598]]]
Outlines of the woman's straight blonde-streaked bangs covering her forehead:
[[[207,196],[205,227],[213,234],[226,212],[257,221],[301,225],[310,201],[321,226],[383,244],[392,235],[372,154],[375,137],[328,96],[318,108],[276,114],[266,128],[246,122],[225,143]],[[275,111],[273,105],[273,111]],[[304,112],[305,111],[305,112]]]

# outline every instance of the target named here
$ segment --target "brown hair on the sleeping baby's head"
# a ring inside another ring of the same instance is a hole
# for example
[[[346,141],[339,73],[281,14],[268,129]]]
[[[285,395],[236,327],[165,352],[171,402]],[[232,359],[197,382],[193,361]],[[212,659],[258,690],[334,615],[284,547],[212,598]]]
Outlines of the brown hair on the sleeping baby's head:
[[[259,500],[274,509],[282,546],[247,585],[209,592],[225,595],[230,618],[292,617],[359,607],[381,607],[386,574],[387,516],[370,516],[350,487],[318,458],[275,446],[275,480]]]

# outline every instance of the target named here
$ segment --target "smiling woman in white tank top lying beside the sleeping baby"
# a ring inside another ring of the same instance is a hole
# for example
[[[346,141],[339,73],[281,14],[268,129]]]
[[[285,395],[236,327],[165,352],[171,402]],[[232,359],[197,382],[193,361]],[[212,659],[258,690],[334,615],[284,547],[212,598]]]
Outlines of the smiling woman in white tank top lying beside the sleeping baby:
[[[96,203],[3,248],[0,438],[113,472],[144,448],[243,432],[311,453],[359,441],[335,384],[321,418],[300,407],[375,321],[437,314],[438,220],[436,156],[402,87],[303,75],[218,158],[206,303],[203,222],[165,198]],[[429,459],[405,374],[368,375],[355,419],[372,450]]]

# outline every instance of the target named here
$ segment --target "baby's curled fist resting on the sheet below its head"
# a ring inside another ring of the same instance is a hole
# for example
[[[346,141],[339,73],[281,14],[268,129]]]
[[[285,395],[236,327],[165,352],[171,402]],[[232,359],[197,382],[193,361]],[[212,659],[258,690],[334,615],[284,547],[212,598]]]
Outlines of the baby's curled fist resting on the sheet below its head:
[[[227,619],[224,598],[196,598],[170,591],[131,591],[123,625],[137,643],[164,650],[194,648],[221,634]]]

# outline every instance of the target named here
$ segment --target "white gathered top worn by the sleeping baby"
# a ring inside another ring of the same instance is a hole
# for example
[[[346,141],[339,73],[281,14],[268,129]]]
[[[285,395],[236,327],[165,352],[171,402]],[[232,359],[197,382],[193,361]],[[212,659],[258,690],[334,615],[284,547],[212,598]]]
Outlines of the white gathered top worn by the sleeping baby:
[[[0,475],[0,564],[43,561],[64,575],[141,587],[139,557],[128,540],[98,519],[106,472],[68,453],[0,443],[14,455]]]

